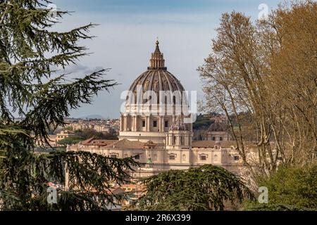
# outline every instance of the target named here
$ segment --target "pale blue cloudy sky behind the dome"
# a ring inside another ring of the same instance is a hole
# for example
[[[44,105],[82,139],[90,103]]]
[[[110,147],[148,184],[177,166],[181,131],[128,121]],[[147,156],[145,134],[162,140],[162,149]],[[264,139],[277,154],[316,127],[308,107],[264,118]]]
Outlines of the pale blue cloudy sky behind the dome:
[[[115,79],[120,85],[100,91],[90,105],[71,111],[71,117],[101,115],[118,118],[123,99],[133,80],[149,66],[156,37],[160,41],[168,71],[173,73],[187,91],[197,91],[203,99],[197,68],[211,53],[211,39],[216,37],[222,13],[240,11],[258,18],[278,5],[272,0],[51,0],[62,11],[71,11],[54,29],[67,31],[89,23],[98,24],[90,30],[96,36],[81,41],[89,56],[70,65],[70,77],[82,77],[99,68],[111,68],[106,79]],[[260,6],[260,7],[259,7]]]

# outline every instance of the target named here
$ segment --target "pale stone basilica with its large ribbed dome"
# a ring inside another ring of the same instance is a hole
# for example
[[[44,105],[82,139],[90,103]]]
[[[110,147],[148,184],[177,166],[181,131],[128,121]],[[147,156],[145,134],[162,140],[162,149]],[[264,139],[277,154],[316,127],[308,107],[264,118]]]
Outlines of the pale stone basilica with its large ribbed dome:
[[[120,115],[119,140],[89,139],[68,150],[87,150],[113,158],[135,156],[142,165],[132,172],[135,178],[205,164],[239,174],[242,160],[223,121],[211,125],[205,141],[192,141],[192,123],[187,120],[191,115],[182,91],[185,89],[180,80],[168,72],[156,41],[149,68],[130,86],[125,111]],[[140,100],[140,95],[146,99]]]

